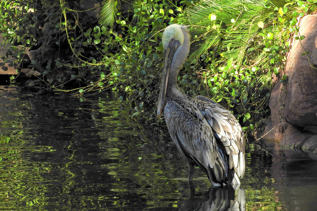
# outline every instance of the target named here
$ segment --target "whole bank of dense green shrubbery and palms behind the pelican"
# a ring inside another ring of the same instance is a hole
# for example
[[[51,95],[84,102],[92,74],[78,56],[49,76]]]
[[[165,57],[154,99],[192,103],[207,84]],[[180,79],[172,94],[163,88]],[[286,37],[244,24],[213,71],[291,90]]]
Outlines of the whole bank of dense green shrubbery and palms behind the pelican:
[[[194,42],[180,87],[231,108],[244,129],[253,130],[259,125],[255,120],[268,114],[271,76],[283,75],[290,38],[304,39],[297,34],[296,18],[314,11],[315,2],[107,0],[100,25],[76,2],[3,1],[0,20],[13,46],[10,54],[42,73],[34,83],[81,87],[81,94],[111,89],[119,100],[131,100],[133,118],[151,123],[157,122],[162,29],[185,23]],[[33,61],[23,60],[29,49],[37,53]]]

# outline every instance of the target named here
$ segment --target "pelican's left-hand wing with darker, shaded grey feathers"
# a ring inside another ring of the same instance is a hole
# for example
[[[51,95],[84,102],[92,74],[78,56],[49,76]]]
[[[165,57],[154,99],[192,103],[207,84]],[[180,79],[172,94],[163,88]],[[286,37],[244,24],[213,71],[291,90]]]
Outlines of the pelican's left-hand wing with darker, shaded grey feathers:
[[[208,122],[199,111],[197,113],[197,109],[193,110],[193,114],[197,113],[202,119],[195,117],[188,110],[191,108],[186,105],[184,107],[186,109],[176,101],[168,101],[164,110],[166,125],[178,151],[184,158],[200,166],[214,185],[226,183],[226,158],[219,153]]]

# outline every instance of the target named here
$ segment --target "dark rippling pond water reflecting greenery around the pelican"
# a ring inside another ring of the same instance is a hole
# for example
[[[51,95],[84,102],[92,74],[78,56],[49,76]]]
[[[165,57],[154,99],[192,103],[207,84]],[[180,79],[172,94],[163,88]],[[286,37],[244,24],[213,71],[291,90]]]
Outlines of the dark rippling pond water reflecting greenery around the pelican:
[[[240,187],[210,188],[165,127],[115,98],[0,86],[0,210],[316,210],[317,157],[246,143]],[[296,158],[290,158],[294,157]]]

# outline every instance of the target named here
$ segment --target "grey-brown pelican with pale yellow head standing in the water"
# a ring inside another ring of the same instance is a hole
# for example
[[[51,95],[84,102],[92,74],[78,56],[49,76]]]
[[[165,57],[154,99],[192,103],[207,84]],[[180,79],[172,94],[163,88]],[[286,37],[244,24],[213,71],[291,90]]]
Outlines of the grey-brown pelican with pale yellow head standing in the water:
[[[157,116],[165,122],[180,154],[188,161],[190,186],[194,165],[199,166],[213,186],[240,184],[245,170],[243,130],[231,114],[204,96],[192,99],[177,86],[178,72],[190,47],[186,26],[172,24],[162,37],[164,66]]]

